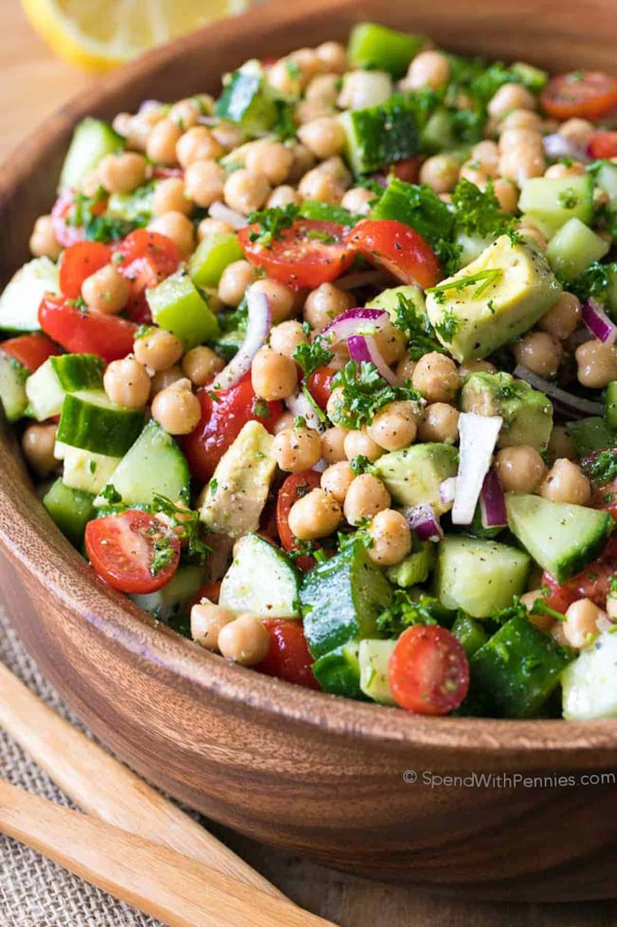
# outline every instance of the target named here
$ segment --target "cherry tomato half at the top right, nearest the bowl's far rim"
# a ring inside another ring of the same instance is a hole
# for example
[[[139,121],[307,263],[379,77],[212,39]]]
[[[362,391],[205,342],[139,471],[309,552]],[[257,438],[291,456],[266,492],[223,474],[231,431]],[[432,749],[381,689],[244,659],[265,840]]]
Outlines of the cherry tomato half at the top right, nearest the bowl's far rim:
[[[540,96],[555,119],[599,119],[617,106],[617,79],[597,70],[575,70],[553,77]]]

